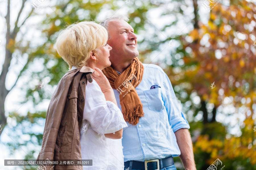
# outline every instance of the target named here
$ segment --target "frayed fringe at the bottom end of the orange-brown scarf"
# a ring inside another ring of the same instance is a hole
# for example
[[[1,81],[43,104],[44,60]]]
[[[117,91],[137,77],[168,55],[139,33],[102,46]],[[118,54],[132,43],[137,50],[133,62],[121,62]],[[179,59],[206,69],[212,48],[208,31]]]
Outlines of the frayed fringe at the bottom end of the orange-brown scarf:
[[[143,105],[138,104],[134,107],[126,109],[122,113],[123,113],[123,118],[126,122],[129,122],[129,124],[132,124],[132,125],[137,125],[139,123],[139,118],[144,116]],[[133,116],[133,113],[135,113],[134,116]]]

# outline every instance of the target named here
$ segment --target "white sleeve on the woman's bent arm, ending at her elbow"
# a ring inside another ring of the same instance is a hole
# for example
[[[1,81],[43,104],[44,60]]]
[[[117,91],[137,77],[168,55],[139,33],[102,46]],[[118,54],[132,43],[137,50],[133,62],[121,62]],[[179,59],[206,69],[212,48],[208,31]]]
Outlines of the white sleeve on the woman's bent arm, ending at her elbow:
[[[99,134],[113,133],[127,127],[120,109],[113,102],[106,101],[95,81],[86,86],[83,119]]]

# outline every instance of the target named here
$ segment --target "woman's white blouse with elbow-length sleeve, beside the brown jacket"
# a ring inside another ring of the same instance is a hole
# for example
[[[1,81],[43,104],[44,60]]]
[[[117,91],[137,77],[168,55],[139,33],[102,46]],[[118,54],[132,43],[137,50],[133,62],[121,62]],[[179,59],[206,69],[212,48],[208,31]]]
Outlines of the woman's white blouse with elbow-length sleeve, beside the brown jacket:
[[[117,105],[106,101],[95,80],[87,82],[80,144],[82,159],[92,160],[92,166],[83,166],[84,170],[124,169],[122,139],[109,139],[104,134],[125,127],[127,123]]]

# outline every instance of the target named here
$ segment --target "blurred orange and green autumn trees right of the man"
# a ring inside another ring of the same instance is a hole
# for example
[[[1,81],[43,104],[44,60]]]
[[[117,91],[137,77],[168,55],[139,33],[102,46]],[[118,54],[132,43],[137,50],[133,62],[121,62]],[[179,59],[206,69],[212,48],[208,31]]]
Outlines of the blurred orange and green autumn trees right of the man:
[[[191,117],[198,169],[217,158],[225,169],[256,169],[255,13],[247,1],[219,3],[207,24],[196,13],[194,29],[176,38],[169,78]]]

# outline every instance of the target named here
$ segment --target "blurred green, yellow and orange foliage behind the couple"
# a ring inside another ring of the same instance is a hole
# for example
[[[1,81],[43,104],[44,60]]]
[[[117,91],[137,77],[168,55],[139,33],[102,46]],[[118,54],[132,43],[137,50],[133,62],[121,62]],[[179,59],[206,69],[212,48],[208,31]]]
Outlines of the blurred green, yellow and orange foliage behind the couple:
[[[13,47],[16,44],[18,50],[28,54],[27,65],[33,65],[36,60],[40,60],[44,65],[41,71],[32,72],[30,80],[24,83],[21,89],[26,91],[23,103],[32,101],[34,107],[37,107],[44,100],[51,99],[55,86],[68,71],[68,65],[54,48],[60,31],[66,25],[75,22],[97,20],[104,10],[114,13],[119,10],[118,3],[120,1],[113,0],[59,1],[57,5],[51,7],[53,11],[45,15],[42,24],[38,25],[38,29],[42,30],[42,38],[45,39],[42,45],[36,48],[23,48],[21,42],[10,41],[7,44],[7,48],[12,51],[15,50]],[[133,26],[136,34],[143,37],[138,42],[138,46],[143,46],[143,48],[139,47],[141,61],[150,60],[150,55],[153,52],[160,52],[161,47],[166,46],[170,40],[179,43],[174,51],[170,50],[164,54],[166,56],[159,64],[166,66],[165,72],[172,82],[176,97],[183,106],[182,111],[189,121],[197,169],[207,169],[217,158],[225,165],[224,169],[256,169],[254,159],[256,158],[256,137],[252,130],[255,122],[252,116],[255,114],[253,104],[256,103],[256,71],[255,51],[253,51],[255,47],[252,45],[251,38],[252,35],[256,35],[256,32],[248,26],[256,21],[255,4],[245,0],[231,1],[230,6],[225,7],[220,3],[211,10],[207,24],[194,18],[194,27],[195,25],[198,27],[187,34],[182,32],[178,34],[169,33],[168,30],[179,26],[180,18],[185,15],[189,7],[185,1],[177,0],[167,3],[131,1],[129,4],[122,1],[122,3],[125,8],[128,8],[131,19],[129,24]],[[173,10],[163,10],[162,7],[169,3],[174,7]],[[201,2],[197,3],[201,5]],[[162,10],[161,17],[168,16],[174,19],[162,28],[156,28],[147,15],[148,11],[155,8]],[[135,18],[139,18],[140,22]],[[187,22],[189,24],[191,21]],[[154,29],[154,32],[147,32],[148,27]],[[245,39],[241,39],[239,34],[245,35]],[[160,38],[163,36],[164,39]],[[204,42],[203,37],[208,39],[207,42]],[[216,52],[221,53],[220,58],[216,58]],[[25,73],[26,69],[24,68],[23,71]],[[38,83],[31,83],[35,80]],[[42,82],[45,88],[41,89]],[[216,87],[211,89],[213,82]],[[199,99],[195,101],[195,97]],[[231,125],[215,119],[217,114],[224,114],[221,108],[227,106],[224,102],[226,97],[229,97],[228,103],[234,106],[236,111],[225,114],[225,119],[229,119],[230,115],[240,114],[241,112],[238,111],[240,107],[246,107],[246,111],[251,111],[251,114],[242,112],[246,117],[245,121],[237,121],[240,135],[231,135]],[[9,131],[16,132],[8,134],[16,143],[12,141],[6,143],[13,153],[24,146],[42,144],[43,129],[36,133],[34,127],[44,127],[46,111],[28,112],[26,116],[15,112],[9,113],[9,117],[17,124],[8,126]],[[22,135],[28,135],[28,140],[19,140]],[[37,148],[31,147],[28,150],[24,159],[36,158]],[[174,161],[181,162],[179,158],[174,158]],[[30,168],[32,167],[24,167],[24,169]],[[182,168],[177,167],[177,169]]]

